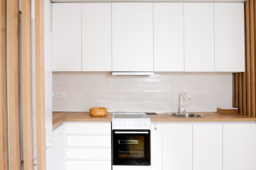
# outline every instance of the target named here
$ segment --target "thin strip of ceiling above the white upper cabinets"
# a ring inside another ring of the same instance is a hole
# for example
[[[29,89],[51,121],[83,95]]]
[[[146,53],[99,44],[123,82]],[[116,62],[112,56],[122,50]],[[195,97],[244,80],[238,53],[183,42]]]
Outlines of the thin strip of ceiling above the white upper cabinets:
[[[246,0],[50,0],[51,2],[245,2]]]

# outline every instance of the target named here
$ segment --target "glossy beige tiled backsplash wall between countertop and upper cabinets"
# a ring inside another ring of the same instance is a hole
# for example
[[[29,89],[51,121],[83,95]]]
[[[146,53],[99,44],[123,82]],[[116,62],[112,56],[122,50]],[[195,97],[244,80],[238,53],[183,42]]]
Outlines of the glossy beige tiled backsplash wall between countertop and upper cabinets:
[[[232,73],[155,72],[151,76],[115,76],[110,72],[53,73],[53,111],[175,112],[180,95],[189,112],[211,112],[232,106]]]

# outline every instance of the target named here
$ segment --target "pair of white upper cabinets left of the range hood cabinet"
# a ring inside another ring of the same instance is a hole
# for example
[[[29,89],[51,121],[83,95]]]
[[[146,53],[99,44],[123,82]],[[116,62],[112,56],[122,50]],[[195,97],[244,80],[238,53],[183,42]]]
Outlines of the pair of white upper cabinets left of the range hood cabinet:
[[[53,71],[111,71],[111,3],[53,3]]]

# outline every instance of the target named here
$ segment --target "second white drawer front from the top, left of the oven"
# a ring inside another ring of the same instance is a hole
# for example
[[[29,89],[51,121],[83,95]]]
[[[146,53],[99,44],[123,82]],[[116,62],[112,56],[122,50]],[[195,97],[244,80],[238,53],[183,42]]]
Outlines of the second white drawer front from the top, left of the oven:
[[[67,135],[67,146],[111,147],[111,136]]]

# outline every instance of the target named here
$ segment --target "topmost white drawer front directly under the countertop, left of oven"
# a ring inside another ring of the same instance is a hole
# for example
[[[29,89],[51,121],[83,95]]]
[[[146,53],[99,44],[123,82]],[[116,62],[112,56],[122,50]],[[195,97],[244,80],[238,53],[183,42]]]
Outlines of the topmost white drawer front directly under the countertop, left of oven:
[[[67,123],[67,133],[111,134],[110,123]]]

